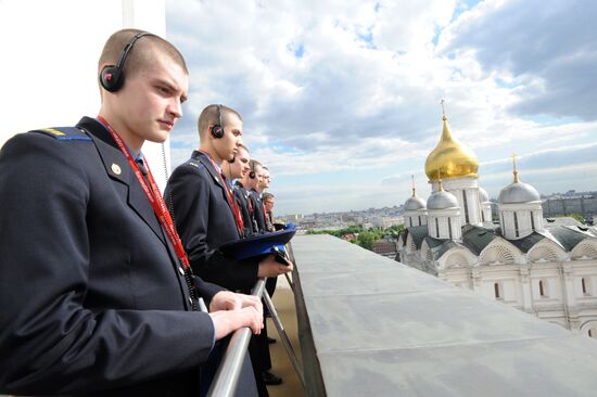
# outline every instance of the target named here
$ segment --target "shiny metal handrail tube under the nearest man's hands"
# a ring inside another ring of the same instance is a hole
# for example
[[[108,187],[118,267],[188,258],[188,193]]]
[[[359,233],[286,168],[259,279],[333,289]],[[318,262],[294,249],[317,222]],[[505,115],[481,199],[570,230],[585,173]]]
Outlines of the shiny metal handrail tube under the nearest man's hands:
[[[264,289],[265,279],[258,279],[253,290],[251,290],[251,295],[262,297]],[[207,396],[228,397],[234,394],[241,374],[242,362],[246,355],[249,341],[251,341],[251,329],[249,326],[234,331],[214,381],[209,386]]]

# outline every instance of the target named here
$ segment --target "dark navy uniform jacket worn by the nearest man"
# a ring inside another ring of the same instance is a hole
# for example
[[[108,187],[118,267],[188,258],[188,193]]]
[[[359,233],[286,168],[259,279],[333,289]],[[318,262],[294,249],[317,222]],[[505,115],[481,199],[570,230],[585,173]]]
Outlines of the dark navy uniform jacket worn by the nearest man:
[[[64,131],[0,152],[0,393],[196,396],[213,322],[105,128]]]

